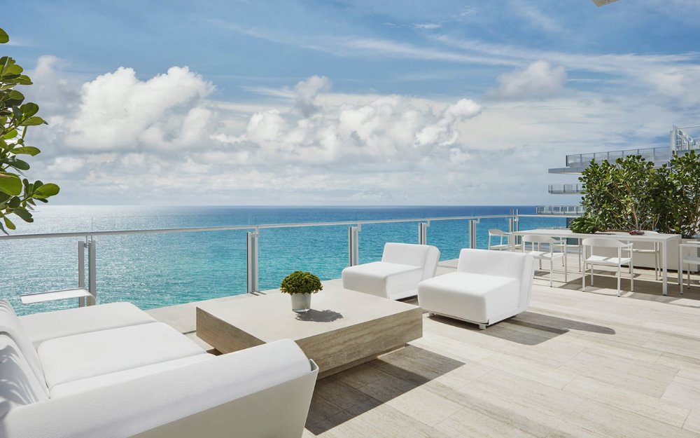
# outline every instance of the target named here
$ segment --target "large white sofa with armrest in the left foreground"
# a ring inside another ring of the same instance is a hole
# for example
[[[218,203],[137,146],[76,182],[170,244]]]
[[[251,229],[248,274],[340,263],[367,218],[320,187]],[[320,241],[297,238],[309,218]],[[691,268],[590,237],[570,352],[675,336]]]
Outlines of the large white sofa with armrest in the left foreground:
[[[0,437],[301,437],[318,367],[293,341],[214,356],[129,303],[0,300]]]

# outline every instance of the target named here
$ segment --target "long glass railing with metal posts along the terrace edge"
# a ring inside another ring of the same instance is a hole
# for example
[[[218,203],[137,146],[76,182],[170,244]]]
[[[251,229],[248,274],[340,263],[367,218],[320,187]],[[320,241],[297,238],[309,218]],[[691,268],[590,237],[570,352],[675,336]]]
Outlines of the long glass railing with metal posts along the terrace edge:
[[[190,219],[167,221],[181,224]],[[110,219],[116,224],[121,220],[128,219]],[[419,224],[428,224],[422,242]],[[97,303],[129,301],[149,309],[253,292],[248,282],[251,277],[256,280],[255,290],[275,289],[282,278],[297,270],[315,273],[321,280],[340,278],[353,252],[359,263],[377,261],[386,242],[435,245],[444,261],[458,258],[465,247],[485,249],[490,228],[515,231],[563,226],[564,217],[514,212],[304,224],[218,226],[207,222],[206,227],[71,229],[0,236],[4,256],[0,298],[9,299],[22,315],[75,307],[73,300],[22,305],[20,295],[78,287],[79,245],[85,252],[84,287]],[[349,240],[350,227],[359,230],[355,247]],[[251,235],[257,242],[254,252],[248,249]],[[87,249],[85,242],[91,242]],[[90,278],[94,287],[90,287]]]

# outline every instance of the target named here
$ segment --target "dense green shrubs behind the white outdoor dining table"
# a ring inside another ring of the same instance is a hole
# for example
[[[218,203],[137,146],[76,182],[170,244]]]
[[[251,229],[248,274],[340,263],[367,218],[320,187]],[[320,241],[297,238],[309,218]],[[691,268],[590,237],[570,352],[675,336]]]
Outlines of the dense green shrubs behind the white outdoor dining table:
[[[695,151],[661,167],[641,156],[591,161],[579,179],[581,205],[588,218],[598,221],[598,231],[654,230],[686,238],[700,233],[700,156]],[[584,219],[573,221],[575,226],[585,228]]]

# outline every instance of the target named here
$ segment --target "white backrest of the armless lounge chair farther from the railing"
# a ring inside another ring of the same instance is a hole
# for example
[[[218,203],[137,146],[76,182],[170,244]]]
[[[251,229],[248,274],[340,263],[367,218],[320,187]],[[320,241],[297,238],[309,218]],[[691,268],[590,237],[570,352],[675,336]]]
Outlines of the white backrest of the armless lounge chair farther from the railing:
[[[531,255],[521,252],[465,248],[459,252],[457,271],[518,280],[520,282],[519,306],[526,308],[530,302],[535,274],[533,260]]]

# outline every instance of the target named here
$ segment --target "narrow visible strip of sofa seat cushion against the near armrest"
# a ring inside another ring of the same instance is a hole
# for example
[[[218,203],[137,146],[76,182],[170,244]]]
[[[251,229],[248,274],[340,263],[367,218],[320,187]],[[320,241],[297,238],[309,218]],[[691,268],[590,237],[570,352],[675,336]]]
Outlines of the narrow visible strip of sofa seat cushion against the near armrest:
[[[199,355],[183,357],[182,359],[146,365],[146,367],[126,369],[124,371],[117,371],[116,373],[102,374],[102,376],[94,376],[83,378],[78,381],[61,383],[52,388],[51,398],[55,399],[56,397],[65,397],[66,395],[73,395],[77,394],[78,392],[96,390],[109,385],[118,385],[126,381],[132,381],[135,378],[151,376],[152,374],[158,374],[162,373],[163,371],[185,367],[186,365],[194,364],[196,362],[211,360],[214,357],[216,356],[210,355],[209,353],[202,353]]]

